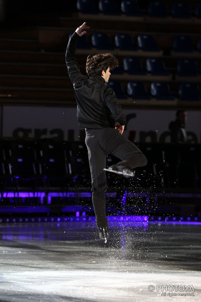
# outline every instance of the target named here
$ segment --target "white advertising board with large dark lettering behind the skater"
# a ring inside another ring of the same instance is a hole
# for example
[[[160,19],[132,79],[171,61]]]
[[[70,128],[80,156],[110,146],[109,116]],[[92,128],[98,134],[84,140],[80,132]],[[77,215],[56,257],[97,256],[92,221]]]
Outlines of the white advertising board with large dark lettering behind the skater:
[[[175,120],[174,110],[123,110],[127,116],[124,136],[136,142],[169,142],[168,124]],[[19,107],[3,108],[3,137],[54,138],[83,140],[76,108]],[[186,129],[190,139],[200,143],[201,112],[187,111]]]

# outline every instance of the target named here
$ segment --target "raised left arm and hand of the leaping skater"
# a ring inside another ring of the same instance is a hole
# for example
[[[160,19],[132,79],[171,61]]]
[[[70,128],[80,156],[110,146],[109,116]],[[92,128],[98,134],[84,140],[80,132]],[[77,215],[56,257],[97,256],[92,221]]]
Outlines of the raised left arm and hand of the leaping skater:
[[[90,28],[88,25],[86,25],[86,22],[77,27],[76,31],[70,37],[66,49],[66,65],[68,68],[68,75],[74,86],[82,81],[82,79],[88,78],[87,76],[81,74],[77,61],[74,58],[77,39],[79,39],[79,36],[81,37],[83,34],[86,34],[86,31],[82,31],[86,28]]]

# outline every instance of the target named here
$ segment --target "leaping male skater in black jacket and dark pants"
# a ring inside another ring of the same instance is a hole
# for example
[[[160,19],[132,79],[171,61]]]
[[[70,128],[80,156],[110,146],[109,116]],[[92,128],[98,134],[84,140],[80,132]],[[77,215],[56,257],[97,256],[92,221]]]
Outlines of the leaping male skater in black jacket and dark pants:
[[[121,111],[113,89],[105,85],[110,71],[118,66],[115,56],[111,53],[89,55],[86,61],[88,76],[80,73],[74,54],[77,39],[86,33],[82,30],[87,28],[90,27],[84,22],[69,39],[66,64],[75,90],[78,124],[86,131],[85,143],[92,179],[92,201],[99,237],[104,239],[109,237],[105,213],[107,182],[103,170],[106,165],[106,156],[113,154],[122,160],[111,166],[112,170],[133,175],[134,171],[131,169],[146,165],[147,160],[137,146],[121,135],[126,117]]]

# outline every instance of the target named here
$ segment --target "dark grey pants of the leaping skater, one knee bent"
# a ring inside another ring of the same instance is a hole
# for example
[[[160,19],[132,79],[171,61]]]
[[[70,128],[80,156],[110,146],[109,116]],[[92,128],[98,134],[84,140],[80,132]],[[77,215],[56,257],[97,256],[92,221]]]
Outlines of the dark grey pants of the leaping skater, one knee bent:
[[[140,149],[115,128],[86,129],[85,143],[89,156],[96,224],[97,227],[108,226],[105,214],[107,182],[103,170],[107,155],[117,156],[130,169],[146,165],[147,160]]]

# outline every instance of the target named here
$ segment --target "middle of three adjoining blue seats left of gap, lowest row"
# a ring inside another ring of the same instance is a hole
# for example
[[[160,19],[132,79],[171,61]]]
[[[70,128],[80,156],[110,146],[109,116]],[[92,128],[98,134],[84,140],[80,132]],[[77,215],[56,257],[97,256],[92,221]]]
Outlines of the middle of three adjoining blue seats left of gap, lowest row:
[[[127,94],[135,99],[150,100],[151,96],[147,94],[146,87],[141,82],[128,82]]]

